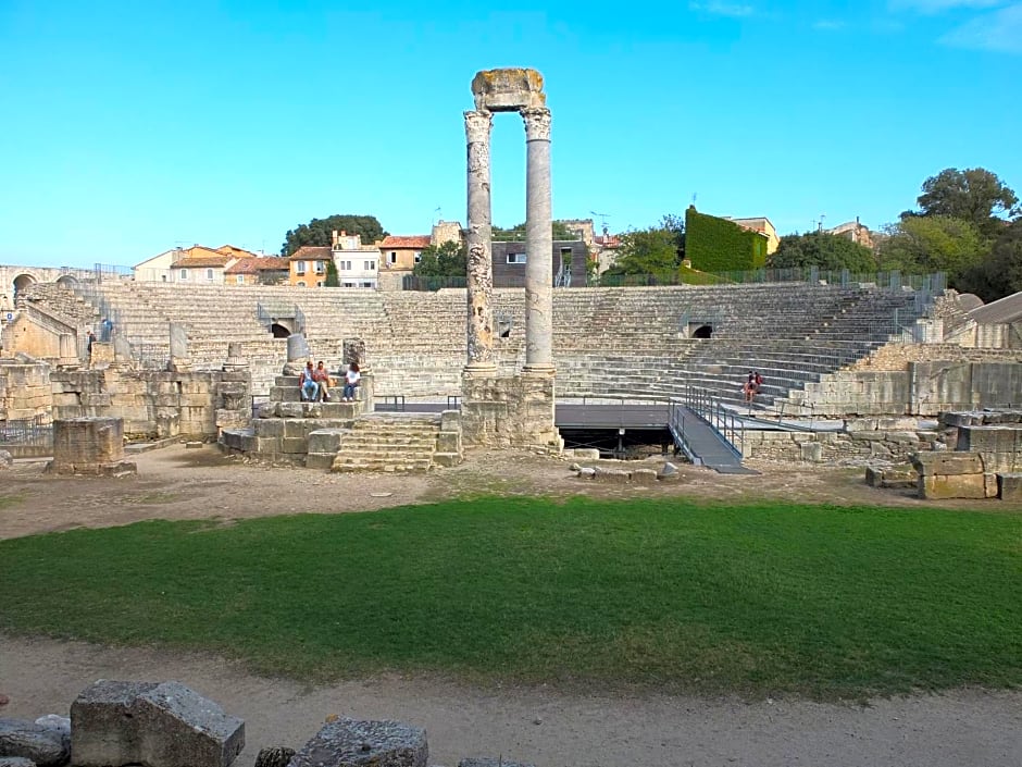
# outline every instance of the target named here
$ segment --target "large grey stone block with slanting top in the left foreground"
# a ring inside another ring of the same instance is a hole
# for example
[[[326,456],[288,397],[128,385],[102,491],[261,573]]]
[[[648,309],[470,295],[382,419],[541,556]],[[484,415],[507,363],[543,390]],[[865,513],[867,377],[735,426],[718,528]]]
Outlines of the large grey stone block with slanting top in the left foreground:
[[[227,767],[245,722],[180,682],[100,680],[71,705],[76,767]]]

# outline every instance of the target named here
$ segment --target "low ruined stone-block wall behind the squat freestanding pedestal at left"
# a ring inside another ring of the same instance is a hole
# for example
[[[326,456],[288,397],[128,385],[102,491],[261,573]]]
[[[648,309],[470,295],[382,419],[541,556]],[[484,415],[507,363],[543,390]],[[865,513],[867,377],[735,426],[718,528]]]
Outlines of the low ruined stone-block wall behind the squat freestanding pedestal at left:
[[[213,440],[223,428],[248,424],[248,370],[158,372],[111,366],[50,373],[54,418],[124,419],[127,438]]]

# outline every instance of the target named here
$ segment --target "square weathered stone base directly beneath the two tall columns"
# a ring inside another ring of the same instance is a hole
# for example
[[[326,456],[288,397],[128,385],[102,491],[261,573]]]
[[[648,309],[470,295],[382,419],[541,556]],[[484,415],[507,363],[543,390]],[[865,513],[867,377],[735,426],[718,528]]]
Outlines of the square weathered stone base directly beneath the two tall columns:
[[[468,446],[529,447],[560,453],[553,426],[553,376],[493,376],[462,380],[462,438]]]

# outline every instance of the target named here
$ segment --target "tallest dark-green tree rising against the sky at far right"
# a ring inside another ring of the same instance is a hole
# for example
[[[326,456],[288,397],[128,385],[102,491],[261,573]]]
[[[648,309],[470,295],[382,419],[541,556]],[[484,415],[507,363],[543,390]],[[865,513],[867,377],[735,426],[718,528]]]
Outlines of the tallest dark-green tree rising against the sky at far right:
[[[1002,219],[1022,213],[1014,191],[983,168],[940,171],[923,182],[923,194],[917,202],[921,211],[909,215],[961,219],[972,222],[982,234],[994,236],[1004,225]]]

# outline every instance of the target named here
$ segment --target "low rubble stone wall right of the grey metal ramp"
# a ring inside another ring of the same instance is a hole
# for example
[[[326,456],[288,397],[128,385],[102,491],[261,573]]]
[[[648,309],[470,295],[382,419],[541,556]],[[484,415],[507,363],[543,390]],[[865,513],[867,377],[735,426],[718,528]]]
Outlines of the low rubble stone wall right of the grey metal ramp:
[[[842,431],[747,431],[743,437],[746,458],[811,463],[900,462],[920,450],[942,449],[943,433],[920,429],[914,418],[856,418],[844,421]]]

